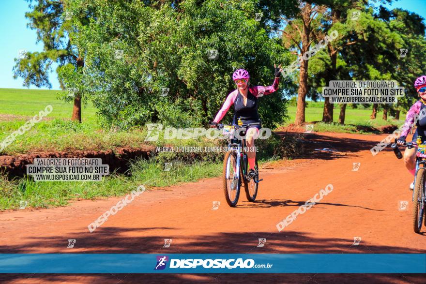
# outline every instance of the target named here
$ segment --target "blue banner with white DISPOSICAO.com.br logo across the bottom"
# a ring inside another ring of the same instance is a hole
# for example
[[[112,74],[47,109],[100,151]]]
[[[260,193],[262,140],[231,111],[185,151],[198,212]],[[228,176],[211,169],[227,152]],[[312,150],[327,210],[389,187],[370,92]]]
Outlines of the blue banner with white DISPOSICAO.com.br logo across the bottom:
[[[426,273],[426,254],[0,254],[0,273]]]

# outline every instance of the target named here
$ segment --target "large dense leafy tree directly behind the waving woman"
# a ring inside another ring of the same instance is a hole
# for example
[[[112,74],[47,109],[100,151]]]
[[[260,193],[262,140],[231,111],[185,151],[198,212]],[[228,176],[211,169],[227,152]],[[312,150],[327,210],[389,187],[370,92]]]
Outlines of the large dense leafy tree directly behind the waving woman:
[[[288,63],[288,50],[268,35],[269,19],[256,13],[278,20],[291,2],[75,0],[75,13],[92,11],[88,25],[77,25],[85,52],[78,84],[106,125],[205,124],[235,89],[235,69],[247,69],[251,84],[270,85],[274,63]],[[260,100],[265,126],[283,120],[284,103],[280,92]]]

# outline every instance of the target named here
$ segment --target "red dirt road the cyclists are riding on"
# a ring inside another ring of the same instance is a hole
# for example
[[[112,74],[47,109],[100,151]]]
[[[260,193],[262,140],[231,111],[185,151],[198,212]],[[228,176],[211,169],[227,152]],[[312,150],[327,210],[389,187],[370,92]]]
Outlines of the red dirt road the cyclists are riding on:
[[[390,150],[372,156],[386,135],[308,134],[310,157],[260,171],[258,202],[240,194],[228,207],[220,178],[144,192],[90,233],[87,226],[121,198],[55,209],[0,213],[0,253],[426,253],[426,229],[412,229],[412,176]],[[314,143],[317,142],[317,143]],[[310,158],[310,159],[309,159]],[[353,163],[361,163],[352,171]],[[270,166],[272,167],[272,166]],[[334,190],[278,232],[286,218],[327,184]],[[213,201],[220,201],[212,210]],[[400,201],[408,209],[399,210]],[[361,237],[353,246],[354,237]],[[266,238],[264,247],[258,239]],[[68,239],[76,239],[67,248]],[[172,239],[163,248],[164,239]],[[354,264],[356,265],[356,264]],[[2,275],[10,283],[424,283],[410,274]]]

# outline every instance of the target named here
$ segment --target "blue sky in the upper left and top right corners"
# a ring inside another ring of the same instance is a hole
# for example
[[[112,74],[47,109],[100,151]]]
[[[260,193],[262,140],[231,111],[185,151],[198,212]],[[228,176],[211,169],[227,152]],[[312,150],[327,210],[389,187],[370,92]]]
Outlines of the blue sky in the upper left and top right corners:
[[[398,7],[409,10],[426,18],[426,0],[399,0],[394,1],[392,5],[386,6],[388,8]],[[0,88],[25,88],[22,86],[23,80],[21,78],[13,78],[14,59],[18,57],[18,52],[21,49],[29,51],[43,50],[41,44],[36,45],[35,43],[35,30],[27,28],[28,20],[25,18],[25,12],[27,11],[29,11],[27,1],[1,0],[0,36],[4,41],[0,45]],[[53,90],[59,90],[58,76],[55,69],[56,65],[52,68],[50,83]],[[38,88],[31,86],[30,89]]]

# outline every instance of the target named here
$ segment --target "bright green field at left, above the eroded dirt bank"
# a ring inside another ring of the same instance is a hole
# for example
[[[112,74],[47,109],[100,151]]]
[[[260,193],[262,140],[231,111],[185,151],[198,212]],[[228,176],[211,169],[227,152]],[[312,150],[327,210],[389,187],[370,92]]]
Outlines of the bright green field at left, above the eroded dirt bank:
[[[82,123],[70,121],[73,103],[57,100],[58,90],[0,89],[0,141],[25,124],[27,120],[52,105],[53,111],[35,124],[25,135],[2,153],[32,151],[106,150],[115,147],[140,147],[145,135],[141,131],[109,132],[98,124],[91,104],[82,108]]]

